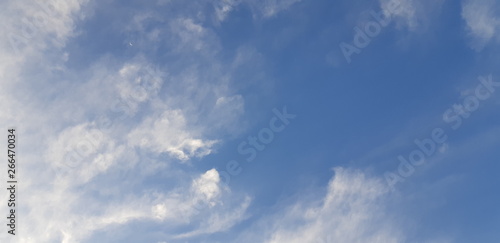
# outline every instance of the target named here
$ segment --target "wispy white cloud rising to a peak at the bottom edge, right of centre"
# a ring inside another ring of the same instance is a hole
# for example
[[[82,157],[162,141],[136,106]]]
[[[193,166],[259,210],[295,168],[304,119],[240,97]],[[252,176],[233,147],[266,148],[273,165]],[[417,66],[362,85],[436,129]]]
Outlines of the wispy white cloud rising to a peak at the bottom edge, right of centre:
[[[360,170],[336,167],[322,196],[304,195],[262,217],[237,242],[455,242],[443,234],[415,237],[411,223],[399,215],[404,205],[398,205],[398,196],[383,178]]]

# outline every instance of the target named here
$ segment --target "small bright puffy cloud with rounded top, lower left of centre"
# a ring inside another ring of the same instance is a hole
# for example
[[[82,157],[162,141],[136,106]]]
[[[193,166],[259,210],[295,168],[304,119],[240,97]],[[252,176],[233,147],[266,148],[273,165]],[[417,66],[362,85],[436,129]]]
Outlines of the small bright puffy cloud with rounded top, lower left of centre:
[[[251,199],[231,194],[229,188],[220,182],[215,169],[193,179],[189,191],[190,194],[170,194],[152,208],[154,217],[161,221],[198,225],[189,232],[172,236],[172,239],[226,231],[246,218]]]

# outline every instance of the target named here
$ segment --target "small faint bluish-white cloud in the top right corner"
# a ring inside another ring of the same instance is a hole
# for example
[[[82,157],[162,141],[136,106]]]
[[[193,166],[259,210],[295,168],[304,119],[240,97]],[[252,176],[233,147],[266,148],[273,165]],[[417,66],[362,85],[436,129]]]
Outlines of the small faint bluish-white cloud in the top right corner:
[[[500,5],[494,0],[464,0],[462,18],[471,37],[471,47],[482,50],[490,41],[500,40]]]

